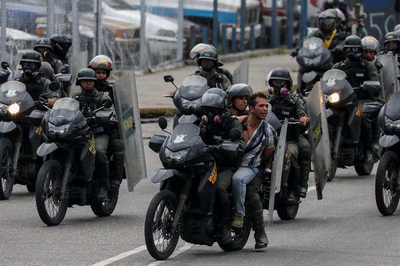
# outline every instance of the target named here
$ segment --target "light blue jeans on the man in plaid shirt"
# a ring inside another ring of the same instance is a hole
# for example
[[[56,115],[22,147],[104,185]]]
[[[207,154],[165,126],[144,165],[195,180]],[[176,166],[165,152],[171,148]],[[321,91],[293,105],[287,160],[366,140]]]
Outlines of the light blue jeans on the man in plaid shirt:
[[[258,174],[257,167],[239,167],[232,176],[232,198],[234,214],[245,215],[244,197],[246,196],[246,185]]]

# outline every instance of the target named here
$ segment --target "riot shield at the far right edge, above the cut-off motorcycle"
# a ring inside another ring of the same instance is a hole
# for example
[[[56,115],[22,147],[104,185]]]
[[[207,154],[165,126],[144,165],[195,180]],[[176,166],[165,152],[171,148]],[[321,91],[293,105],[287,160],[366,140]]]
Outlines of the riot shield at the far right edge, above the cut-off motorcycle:
[[[390,95],[399,90],[397,56],[391,53],[378,54],[376,59],[383,65],[380,69],[380,84],[382,85],[380,97],[387,102]]]

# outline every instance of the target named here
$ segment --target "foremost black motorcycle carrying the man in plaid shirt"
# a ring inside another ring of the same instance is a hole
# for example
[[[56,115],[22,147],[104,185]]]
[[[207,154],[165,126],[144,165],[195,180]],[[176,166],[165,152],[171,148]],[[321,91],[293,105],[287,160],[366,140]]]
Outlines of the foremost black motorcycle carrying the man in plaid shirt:
[[[161,129],[166,120],[158,120]],[[231,129],[232,140],[240,131]],[[220,224],[215,204],[216,165],[214,156],[233,161],[239,144],[221,140],[207,146],[199,136],[198,126],[178,124],[171,135],[153,135],[149,148],[159,153],[164,168],[157,169],[151,182],[160,183],[160,191],[151,200],[144,222],[144,239],[148,253],[156,260],[167,259],[174,251],[179,236],[182,240],[212,246],[219,241]],[[224,251],[240,250],[247,242],[251,221],[244,217],[243,227],[232,231],[231,241],[218,243]]]

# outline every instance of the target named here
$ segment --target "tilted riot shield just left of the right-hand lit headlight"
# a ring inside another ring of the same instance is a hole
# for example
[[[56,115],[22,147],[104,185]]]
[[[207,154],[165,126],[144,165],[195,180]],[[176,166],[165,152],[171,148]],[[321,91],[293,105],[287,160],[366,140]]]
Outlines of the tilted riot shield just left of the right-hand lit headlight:
[[[315,83],[311,92],[307,96],[305,109],[310,118],[308,126],[308,141],[312,149],[312,166],[314,169],[314,179],[316,196],[322,199],[322,190],[330,175],[330,143],[328,133],[328,123],[326,120],[326,109],[321,82]]]

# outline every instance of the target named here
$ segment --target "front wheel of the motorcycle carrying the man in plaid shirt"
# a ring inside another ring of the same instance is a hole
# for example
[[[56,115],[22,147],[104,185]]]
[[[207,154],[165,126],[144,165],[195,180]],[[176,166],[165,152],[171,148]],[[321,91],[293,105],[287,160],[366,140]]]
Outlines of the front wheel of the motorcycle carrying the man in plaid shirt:
[[[167,259],[178,243],[178,230],[170,230],[176,207],[176,196],[168,190],[155,194],[148,206],[144,222],[144,240],[148,253],[156,260]]]

